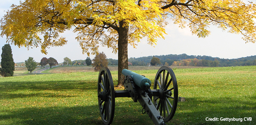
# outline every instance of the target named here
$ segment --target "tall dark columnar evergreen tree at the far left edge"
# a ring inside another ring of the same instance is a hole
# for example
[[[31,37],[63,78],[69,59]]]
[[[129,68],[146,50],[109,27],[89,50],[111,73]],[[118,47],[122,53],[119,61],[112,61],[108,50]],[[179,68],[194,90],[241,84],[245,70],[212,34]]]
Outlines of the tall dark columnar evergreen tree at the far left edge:
[[[10,44],[5,44],[2,47],[1,57],[2,57],[2,59],[1,59],[0,74],[3,77],[13,76],[15,63],[13,62],[12,49],[11,49]]]

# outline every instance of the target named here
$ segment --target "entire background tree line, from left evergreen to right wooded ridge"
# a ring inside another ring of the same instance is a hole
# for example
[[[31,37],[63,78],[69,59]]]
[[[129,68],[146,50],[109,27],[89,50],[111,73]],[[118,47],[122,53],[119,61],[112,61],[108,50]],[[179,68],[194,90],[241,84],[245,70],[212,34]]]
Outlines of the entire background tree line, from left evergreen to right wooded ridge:
[[[15,69],[15,63],[12,57],[12,50],[9,44],[5,44],[2,47],[1,54],[1,68],[0,74],[3,77],[13,76],[13,71]],[[237,59],[221,59],[218,57],[211,56],[195,56],[195,55],[160,55],[160,56],[148,56],[140,58],[129,58],[129,65],[165,65],[165,66],[206,66],[206,67],[218,67],[218,66],[250,66],[256,65],[256,55],[247,56]],[[58,62],[56,59],[50,57],[43,57],[40,63],[35,62],[33,57],[29,57],[28,60],[25,60],[25,66],[28,71],[32,74],[32,71],[40,64],[42,67],[49,64],[50,68],[57,65]],[[107,59],[104,52],[96,54],[94,59],[87,57],[86,60],[74,60],[71,61],[68,57],[64,58],[63,64],[76,64],[76,65],[92,65],[95,71],[99,71],[101,67],[107,67],[108,65],[118,65],[118,60],[116,59]],[[24,65],[22,62],[21,65]]]

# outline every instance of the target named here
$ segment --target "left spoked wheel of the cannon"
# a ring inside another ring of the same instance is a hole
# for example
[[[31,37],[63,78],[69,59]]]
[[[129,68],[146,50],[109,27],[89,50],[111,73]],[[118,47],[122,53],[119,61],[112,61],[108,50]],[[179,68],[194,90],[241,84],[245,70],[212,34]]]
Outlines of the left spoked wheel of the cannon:
[[[115,91],[111,73],[107,67],[100,70],[98,77],[98,103],[105,125],[110,125],[115,113]]]

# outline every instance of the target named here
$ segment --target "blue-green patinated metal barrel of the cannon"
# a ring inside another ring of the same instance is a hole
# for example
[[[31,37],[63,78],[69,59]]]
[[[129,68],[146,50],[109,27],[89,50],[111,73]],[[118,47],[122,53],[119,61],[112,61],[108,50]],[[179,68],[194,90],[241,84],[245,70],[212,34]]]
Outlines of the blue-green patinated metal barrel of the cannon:
[[[151,86],[151,81],[148,78],[140,74],[137,74],[135,72],[132,72],[128,69],[123,69],[122,74],[124,76],[131,76],[135,84],[140,88],[142,88],[143,90],[149,89]]]

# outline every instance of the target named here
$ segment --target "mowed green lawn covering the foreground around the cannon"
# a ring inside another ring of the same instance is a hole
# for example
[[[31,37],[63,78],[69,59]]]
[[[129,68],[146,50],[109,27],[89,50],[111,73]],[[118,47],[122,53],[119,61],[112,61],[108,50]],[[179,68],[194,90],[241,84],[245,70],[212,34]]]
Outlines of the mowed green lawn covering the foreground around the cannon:
[[[154,82],[157,70],[134,72]],[[101,125],[98,73],[0,78],[0,125]],[[256,66],[175,69],[174,73],[179,96],[186,101],[178,102],[173,119],[166,124],[256,124]],[[116,85],[117,71],[111,74]],[[223,121],[226,118],[238,121]],[[138,102],[116,98],[112,125],[133,124],[153,125],[153,122],[147,114],[142,114]]]

